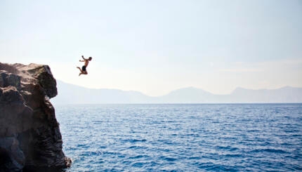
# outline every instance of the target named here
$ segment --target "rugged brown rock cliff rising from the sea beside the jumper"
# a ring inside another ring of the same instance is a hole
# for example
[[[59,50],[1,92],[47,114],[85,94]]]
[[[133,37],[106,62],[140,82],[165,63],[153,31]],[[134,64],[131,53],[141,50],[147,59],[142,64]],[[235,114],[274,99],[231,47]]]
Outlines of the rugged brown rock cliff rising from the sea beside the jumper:
[[[71,165],[49,102],[57,93],[47,65],[0,62],[0,171],[60,171]]]

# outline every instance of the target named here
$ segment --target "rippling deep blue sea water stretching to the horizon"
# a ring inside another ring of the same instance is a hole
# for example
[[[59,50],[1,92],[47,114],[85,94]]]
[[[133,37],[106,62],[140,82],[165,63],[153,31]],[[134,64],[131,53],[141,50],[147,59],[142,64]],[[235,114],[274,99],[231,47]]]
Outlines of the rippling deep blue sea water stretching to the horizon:
[[[302,104],[60,105],[67,171],[302,171]]]

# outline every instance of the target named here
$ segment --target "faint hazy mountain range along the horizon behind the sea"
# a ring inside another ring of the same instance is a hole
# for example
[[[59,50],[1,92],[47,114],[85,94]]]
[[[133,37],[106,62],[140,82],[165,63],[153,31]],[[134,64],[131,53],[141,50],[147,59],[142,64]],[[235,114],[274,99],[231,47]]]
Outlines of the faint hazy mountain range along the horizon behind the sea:
[[[228,95],[216,95],[199,88],[188,87],[151,97],[138,91],[92,89],[63,81],[57,81],[57,84],[58,95],[51,99],[54,104],[302,102],[302,88],[290,86],[273,90],[236,88]]]

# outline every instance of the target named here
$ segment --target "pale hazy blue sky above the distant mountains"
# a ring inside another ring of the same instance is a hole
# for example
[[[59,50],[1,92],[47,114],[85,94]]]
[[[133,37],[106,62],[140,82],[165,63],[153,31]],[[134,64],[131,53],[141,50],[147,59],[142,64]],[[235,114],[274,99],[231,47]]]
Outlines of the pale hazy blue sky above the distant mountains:
[[[301,0],[0,0],[0,25],[0,62],[88,88],[302,87]]]

